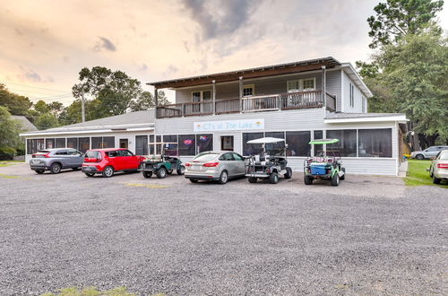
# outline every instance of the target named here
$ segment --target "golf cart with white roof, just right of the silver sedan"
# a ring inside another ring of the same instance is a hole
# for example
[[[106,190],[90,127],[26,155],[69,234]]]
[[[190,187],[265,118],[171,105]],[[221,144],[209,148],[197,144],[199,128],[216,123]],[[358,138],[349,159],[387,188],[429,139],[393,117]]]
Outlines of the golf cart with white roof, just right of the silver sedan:
[[[292,170],[289,168],[286,159],[288,145],[285,139],[264,137],[247,141],[247,144],[262,144],[263,152],[248,157],[246,165],[246,177],[250,183],[256,183],[259,178],[269,178],[271,184],[279,182],[279,175],[285,178],[292,177]],[[281,147],[278,147],[281,144]]]

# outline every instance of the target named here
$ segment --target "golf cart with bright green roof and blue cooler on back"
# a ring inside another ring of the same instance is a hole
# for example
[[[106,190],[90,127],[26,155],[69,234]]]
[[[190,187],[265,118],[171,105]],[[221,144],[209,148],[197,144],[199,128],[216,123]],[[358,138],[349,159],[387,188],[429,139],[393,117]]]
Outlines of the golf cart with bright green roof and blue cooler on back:
[[[335,144],[338,139],[316,139],[309,144]],[[332,186],[339,186],[340,180],[345,179],[345,168],[342,168],[339,150],[317,152],[317,156],[308,157],[304,164],[304,182],[312,185],[314,179],[328,179]]]

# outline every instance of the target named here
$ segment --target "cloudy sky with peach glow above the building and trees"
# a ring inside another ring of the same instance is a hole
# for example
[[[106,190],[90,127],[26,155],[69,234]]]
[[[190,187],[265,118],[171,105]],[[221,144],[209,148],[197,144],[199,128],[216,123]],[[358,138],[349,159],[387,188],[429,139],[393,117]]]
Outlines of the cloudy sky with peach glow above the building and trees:
[[[378,2],[3,0],[0,83],[68,105],[84,66],[148,83],[315,57],[354,63],[371,54],[366,18]]]

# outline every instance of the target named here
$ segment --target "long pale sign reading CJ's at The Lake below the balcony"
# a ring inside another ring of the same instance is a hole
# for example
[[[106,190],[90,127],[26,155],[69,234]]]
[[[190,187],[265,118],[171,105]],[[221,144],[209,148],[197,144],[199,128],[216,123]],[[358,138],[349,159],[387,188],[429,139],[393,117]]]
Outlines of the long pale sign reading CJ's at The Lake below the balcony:
[[[202,121],[194,123],[194,132],[264,129],[264,118],[243,120]]]

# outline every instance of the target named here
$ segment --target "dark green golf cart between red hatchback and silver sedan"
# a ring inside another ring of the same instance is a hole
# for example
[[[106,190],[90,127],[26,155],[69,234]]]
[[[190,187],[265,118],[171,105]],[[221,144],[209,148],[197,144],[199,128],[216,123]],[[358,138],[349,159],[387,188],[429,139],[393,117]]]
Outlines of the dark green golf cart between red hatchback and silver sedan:
[[[177,143],[156,143],[161,144],[161,153],[152,154],[145,157],[142,161],[140,170],[144,178],[151,178],[155,173],[157,178],[165,178],[167,175],[171,175],[173,170],[176,170],[177,175],[184,175],[185,166],[177,156],[166,155],[165,151],[168,149],[169,144]]]

